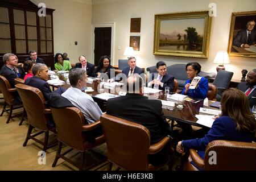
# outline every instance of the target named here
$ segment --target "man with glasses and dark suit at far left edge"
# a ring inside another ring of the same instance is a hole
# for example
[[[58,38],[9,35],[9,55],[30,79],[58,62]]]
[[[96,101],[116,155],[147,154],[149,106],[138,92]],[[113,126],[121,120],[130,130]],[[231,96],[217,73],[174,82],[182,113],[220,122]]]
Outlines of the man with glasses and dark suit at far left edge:
[[[11,88],[15,88],[15,78],[18,78],[15,67],[18,66],[18,60],[13,53],[6,53],[3,55],[3,67],[1,68],[0,75],[6,77],[10,82]]]

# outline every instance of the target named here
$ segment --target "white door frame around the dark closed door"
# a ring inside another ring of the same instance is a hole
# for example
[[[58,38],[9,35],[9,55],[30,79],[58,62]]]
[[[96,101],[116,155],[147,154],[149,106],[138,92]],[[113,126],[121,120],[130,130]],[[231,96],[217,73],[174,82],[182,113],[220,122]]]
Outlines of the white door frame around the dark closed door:
[[[114,64],[114,60],[115,60],[115,57],[114,57],[114,43],[115,43],[115,38],[114,38],[114,35],[115,35],[115,22],[110,22],[110,23],[92,23],[92,49],[91,49],[91,52],[92,52],[92,60],[93,60],[93,64],[94,64],[94,40],[95,40],[95,34],[94,34],[94,30],[95,28],[104,28],[104,27],[111,27],[111,62],[112,62],[112,65]],[[104,56],[104,55],[102,55]]]

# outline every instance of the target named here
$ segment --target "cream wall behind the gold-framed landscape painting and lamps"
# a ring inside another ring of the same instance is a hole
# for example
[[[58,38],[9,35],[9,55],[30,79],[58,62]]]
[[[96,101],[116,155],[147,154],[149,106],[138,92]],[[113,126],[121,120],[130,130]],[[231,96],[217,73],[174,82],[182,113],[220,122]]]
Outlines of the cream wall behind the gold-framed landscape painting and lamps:
[[[216,3],[217,16],[212,19],[208,59],[192,57],[155,56],[154,42],[154,15],[183,11],[209,10],[209,3]],[[115,47],[112,64],[118,64],[118,59],[124,59],[125,48],[130,41],[130,18],[141,17],[141,45],[137,55],[137,65],[147,68],[155,65],[158,60],[166,61],[167,65],[198,61],[205,72],[216,72],[213,64],[217,51],[227,51],[231,14],[241,11],[255,11],[255,0],[123,0],[117,2],[93,5],[92,23],[115,22]],[[121,46],[121,50],[118,50]],[[234,72],[233,79],[240,80],[241,70],[256,68],[255,58],[230,57],[231,64],[225,65],[227,71]]]

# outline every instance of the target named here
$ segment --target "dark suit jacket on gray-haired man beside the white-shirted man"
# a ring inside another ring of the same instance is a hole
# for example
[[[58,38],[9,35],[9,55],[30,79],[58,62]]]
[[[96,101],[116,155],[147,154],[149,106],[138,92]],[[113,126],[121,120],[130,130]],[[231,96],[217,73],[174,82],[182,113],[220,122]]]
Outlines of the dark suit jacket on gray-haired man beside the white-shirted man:
[[[47,98],[47,93],[52,92],[52,90],[49,88],[48,82],[42,80],[37,76],[27,78],[27,80],[25,80],[25,84],[38,88],[43,93],[44,98]]]

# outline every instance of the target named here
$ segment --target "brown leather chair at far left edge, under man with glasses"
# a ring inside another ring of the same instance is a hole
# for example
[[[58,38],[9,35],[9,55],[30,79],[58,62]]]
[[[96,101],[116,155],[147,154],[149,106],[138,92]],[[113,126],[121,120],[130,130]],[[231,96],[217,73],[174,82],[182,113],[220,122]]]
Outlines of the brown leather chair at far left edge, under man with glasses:
[[[0,90],[3,93],[3,98],[5,99],[5,104],[3,105],[3,110],[0,116],[3,115],[3,113],[9,114],[6,123],[9,123],[10,119],[15,117],[13,116],[13,110],[14,109],[19,109],[22,106],[22,104],[17,104],[14,101],[14,96],[13,94],[17,92],[15,88],[11,88],[10,82],[3,76],[0,75]],[[6,109],[6,106],[10,105],[10,109]]]

